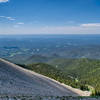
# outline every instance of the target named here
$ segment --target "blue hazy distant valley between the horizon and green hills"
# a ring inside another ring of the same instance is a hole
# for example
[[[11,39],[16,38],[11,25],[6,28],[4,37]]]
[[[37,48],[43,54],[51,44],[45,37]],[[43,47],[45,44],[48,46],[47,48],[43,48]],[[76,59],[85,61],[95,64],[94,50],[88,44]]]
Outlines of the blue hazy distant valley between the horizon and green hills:
[[[100,59],[100,35],[12,35],[0,37],[0,57],[15,63],[30,63],[28,60],[47,62],[55,58]]]

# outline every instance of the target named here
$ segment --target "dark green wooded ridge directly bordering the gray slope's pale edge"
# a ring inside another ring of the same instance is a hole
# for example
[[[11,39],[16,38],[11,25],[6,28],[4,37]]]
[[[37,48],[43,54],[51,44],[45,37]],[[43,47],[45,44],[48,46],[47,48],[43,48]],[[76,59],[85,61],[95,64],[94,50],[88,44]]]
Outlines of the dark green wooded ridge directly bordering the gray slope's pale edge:
[[[82,90],[88,90],[88,87],[85,86],[85,84],[82,84],[81,82],[76,81],[76,79],[72,79],[68,77],[67,74],[63,73],[61,70],[57,69],[54,66],[44,64],[44,63],[36,63],[36,64],[30,64],[30,65],[20,65],[23,68],[27,68],[29,70],[33,70],[37,73],[40,73],[42,75],[48,76],[50,78],[53,78],[61,83],[65,83],[67,85],[70,85],[74,88],[80,88]]]

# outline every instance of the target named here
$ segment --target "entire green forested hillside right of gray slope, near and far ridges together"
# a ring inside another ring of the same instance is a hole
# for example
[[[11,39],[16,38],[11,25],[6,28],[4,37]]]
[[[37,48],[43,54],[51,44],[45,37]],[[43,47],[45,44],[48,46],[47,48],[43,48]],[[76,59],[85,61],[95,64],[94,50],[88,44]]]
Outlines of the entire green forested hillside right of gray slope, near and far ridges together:
[[[90,90],[92,95],[100,95],[100,60],[60,58],[47,63],[33,62],[33,64],[21,66],[74,88]]]

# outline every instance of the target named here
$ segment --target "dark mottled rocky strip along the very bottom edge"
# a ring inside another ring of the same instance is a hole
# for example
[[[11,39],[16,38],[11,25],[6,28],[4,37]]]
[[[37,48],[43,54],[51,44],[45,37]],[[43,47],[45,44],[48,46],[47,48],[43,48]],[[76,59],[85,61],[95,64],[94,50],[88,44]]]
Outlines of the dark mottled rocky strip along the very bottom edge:
[[[41,97],[41,96],[1,96],[0,100],[100,100],[99,97],[69,97],[69,96],[63,96],[63,97],[53,97],[53,96],[47,96],[47,97]]]

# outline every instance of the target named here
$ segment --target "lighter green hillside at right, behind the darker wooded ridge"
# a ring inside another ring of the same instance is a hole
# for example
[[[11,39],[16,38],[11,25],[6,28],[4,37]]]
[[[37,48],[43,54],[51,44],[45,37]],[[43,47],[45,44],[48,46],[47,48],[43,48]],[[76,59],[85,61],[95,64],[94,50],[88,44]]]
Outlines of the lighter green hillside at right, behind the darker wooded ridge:
[[[78,82],[91,85],[95,88],[96,94],[100,95],[100,60],[87,58],[55,59],[50,61],[49,64]]]

